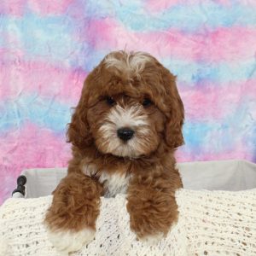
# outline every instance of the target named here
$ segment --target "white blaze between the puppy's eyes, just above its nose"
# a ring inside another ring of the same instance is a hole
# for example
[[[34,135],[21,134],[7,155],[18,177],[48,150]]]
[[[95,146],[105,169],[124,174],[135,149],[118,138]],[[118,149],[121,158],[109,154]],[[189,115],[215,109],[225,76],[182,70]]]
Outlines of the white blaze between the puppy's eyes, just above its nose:
[[[117,128],[148,125],[147,116],[141,113],[141,107],[138,105],[130,108],[122,108],[116,105],[108,114],[108,121],[116,125]]]

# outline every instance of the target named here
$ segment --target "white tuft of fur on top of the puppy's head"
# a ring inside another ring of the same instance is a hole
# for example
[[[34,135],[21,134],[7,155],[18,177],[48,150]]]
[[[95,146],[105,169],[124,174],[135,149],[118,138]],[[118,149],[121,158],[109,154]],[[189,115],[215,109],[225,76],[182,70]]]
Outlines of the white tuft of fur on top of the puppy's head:
[[[117,56],[118,53],[119,53],[119,58]],[[125,53],[120,51],[120,52],[110,53],[105,58],[104,62],[107,67],[115,67],[119,71],[132,72],[139,75],[139,73],[143,72],[145,63],[148,61],[151,61],[150,55],[142,51],[138,51],[135,53],[133,52]]]

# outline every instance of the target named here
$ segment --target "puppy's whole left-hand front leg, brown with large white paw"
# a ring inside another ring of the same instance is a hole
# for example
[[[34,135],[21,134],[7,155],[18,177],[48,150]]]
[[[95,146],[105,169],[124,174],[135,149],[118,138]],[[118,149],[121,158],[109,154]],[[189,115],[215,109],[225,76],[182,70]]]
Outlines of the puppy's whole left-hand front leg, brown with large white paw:
[[[49,240],[59,251],[77,251],[93,240],[101,192],[101,185],[83,173],[69,173],[61,180],[44,220]]]

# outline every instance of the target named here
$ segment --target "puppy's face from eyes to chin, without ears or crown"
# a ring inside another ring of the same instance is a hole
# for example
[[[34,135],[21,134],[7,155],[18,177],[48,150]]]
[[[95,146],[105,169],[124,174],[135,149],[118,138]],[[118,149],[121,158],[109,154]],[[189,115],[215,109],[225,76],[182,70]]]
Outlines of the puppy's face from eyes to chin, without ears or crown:
[[[154,152],[165,123],[164,114],[148,96],[124,93],[101,96],[87,118],[102,153],[130,158]]]

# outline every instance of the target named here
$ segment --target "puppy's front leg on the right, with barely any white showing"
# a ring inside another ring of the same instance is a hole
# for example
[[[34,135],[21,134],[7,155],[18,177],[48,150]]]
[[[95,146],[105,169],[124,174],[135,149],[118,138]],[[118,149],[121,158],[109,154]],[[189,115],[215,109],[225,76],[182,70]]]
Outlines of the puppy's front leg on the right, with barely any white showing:
[[[169,174],[142,173],[131,180],[127,210],[131,230],[137,234],[137,238],[154,244],[166,236],[177,220],[175,190],[182,187],[182,183],[176,170]]]

